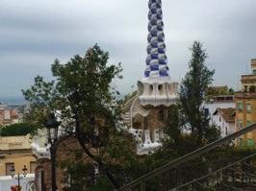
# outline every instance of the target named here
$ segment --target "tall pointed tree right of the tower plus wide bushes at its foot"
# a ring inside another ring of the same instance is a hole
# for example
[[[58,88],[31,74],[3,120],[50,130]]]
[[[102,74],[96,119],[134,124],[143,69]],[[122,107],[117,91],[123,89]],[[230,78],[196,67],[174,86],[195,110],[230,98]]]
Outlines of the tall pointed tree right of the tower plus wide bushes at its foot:
[[[181,157],[219,138],[218,129],[210,125],[209,114],[201,107],[204,101],[202,92],[212,83],[214,70],[210,71],[205,65],[207,55],[202,50],[201,42],[195,41],[190,50],[190,71],[180,84],[177,105],[168,108],[164,125],[168,138],[163,140],[163,147],[154,154],[158,159]]]

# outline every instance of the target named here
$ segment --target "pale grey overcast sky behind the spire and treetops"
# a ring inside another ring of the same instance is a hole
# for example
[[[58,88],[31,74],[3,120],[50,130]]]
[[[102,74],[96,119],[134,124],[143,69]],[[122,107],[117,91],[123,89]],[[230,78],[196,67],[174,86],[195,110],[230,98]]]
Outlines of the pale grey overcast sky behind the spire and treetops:
[[[255,0],[162,0],[169,75],[188,72],[189,47],[203,42],[214,85],[238,90],[256,58]],[[143,78],[148,0],[0,0],[0,96],[19,96],[50,66],[84,56],[95,43],[122,63],[117,89],[127,94]],[[132,89],[131,86],[135,85]]]

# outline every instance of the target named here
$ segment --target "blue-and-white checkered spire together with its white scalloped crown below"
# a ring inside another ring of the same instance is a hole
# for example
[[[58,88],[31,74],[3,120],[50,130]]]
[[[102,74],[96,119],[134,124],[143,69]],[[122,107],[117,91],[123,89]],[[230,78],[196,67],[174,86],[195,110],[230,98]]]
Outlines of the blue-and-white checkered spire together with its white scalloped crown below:
[[[147,57],[144,78],[138,82],[141,106],[170,106],[176,102],[177,83],[168,74],[161,0],[148,3]]]

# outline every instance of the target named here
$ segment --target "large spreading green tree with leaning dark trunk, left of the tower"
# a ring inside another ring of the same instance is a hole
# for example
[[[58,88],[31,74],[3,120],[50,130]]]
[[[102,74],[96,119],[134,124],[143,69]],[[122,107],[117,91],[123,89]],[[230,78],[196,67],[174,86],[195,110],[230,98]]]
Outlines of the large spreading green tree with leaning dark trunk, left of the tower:
[[[118,188],[116,166],[125,169],[129,162],[123,161],[132,161],[136,156],[134,145],[126,138],[129,136],[123,136],[122,131],[115,129],[121,109],[115,103],[118,92],[111,83],[114,78],[122,78],[122,68],[120,63],[117,66],[107,64],[108,60],[108,52],[94,45],[85,58],[76,55],[65,64],[55,60],[51,66],[53,81],[47,83],[38,76],[35,78],[35,84],[22,92],[27,101],[38,100],[43,103],[35,105],[37,107],[34,112],[27,116],[29,121],[32,119],[29,116],[33,116],[38,124],[43,121],[45,123],[47,116],[55,112],[62,121],[64,131],[75,136],[87,155],[86,158],[90,158],[86,159],[87,164],[82,168],[81,164],[85,158],[82,155],[76,156],[78,159],[72,163],[76,171],[72,173],[82,179],[80,174],[83,174],[83,169],[88,169],[89,164],[93,166],[93,163],[97,163],[100,171],[104,172],[97,184],[106,182],[106,179],[102,179],[107,178],[108,182]],[[63,163],[63,167],[67,163]],[[87,173],[84,173],[84,176],[87,176]],[[76,186],[82,188],[85,185]],[[93,186],[91,182],[86,185],[87,189],[90,186]]]

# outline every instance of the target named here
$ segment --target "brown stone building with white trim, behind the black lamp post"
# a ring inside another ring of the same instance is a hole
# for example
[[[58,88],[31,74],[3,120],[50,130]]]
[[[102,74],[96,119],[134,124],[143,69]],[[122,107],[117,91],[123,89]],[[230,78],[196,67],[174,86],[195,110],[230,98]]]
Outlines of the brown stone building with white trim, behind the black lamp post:
[[[46,131],[40,131],[40,134],[45,134]],[[51,190],[52,185],[52,169],[51,169],[51,156],[49,153],[50,145],[46,145],[47,141],[36,137],[36,142],[33,145],[33,154],[37,157],[37,168],[35,172],[36,190],[48,191]],[[43,143],[44,142],[44,143]],[[45,146],[39,146],[40,144]],[[81,146],[77,142],[74,136],[68,136],[66,134],[59,133],[58,141],[56,142],[56,158],[58,162],[72,160],[74,153],[81,151]],[[58,190],[64,190],[64,187],[68,187],[70,179],[68,179],[68,170],[62,168],[56,168],[56,186]]]

